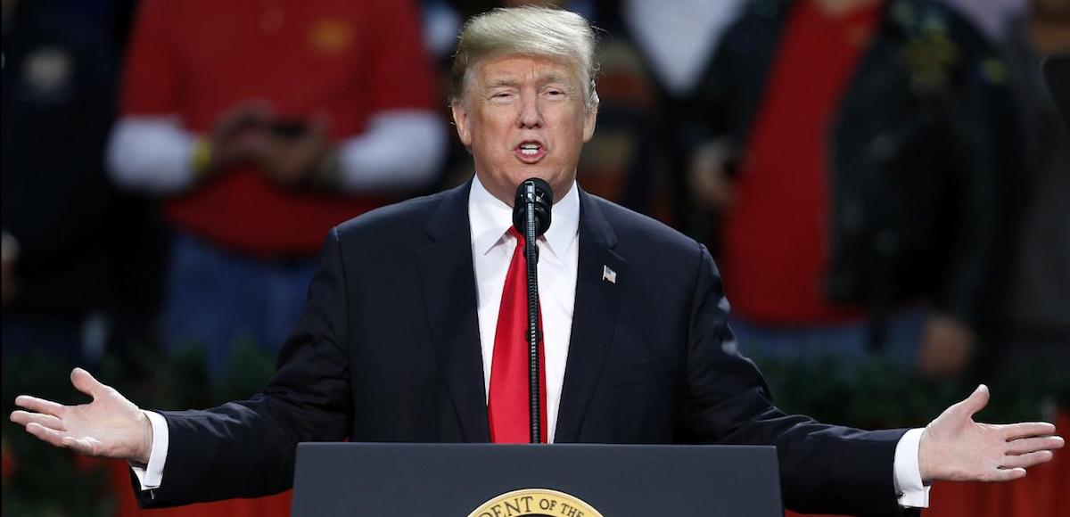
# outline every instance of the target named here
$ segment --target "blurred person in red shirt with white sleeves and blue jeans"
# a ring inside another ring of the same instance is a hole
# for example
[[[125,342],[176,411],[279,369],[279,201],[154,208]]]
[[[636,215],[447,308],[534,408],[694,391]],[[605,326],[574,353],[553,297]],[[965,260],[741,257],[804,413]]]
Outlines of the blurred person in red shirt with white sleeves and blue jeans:
[[[174,230],[164,345],[274,350],[326,231],[437,179],[435,98],[409,0],[143,1],[107,164]]]

